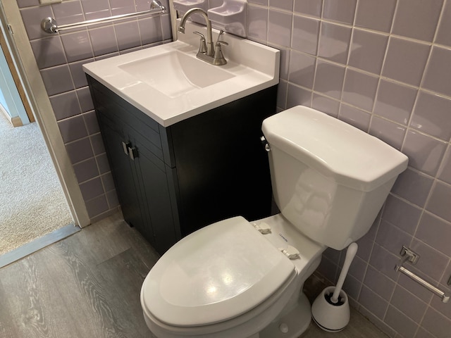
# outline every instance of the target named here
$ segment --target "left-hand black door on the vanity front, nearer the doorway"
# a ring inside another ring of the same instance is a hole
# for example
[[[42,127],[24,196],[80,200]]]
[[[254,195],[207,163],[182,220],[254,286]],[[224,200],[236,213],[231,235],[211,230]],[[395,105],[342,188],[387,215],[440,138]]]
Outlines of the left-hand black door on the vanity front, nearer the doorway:
[[[133,174],[133,163],[129,155],[125,154],[128,140],[123,133],[113,129],[111,121],[104,115],[98,113],[98,118],[124,219],[130,226],[142,231],[145,223],[135,188],[137,184]]]

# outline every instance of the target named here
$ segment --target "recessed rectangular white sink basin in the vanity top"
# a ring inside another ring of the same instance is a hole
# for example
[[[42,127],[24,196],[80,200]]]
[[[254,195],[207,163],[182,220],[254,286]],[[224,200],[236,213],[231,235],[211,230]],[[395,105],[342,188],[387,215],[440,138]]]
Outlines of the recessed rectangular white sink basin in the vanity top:
[[[118,67],[171,98],[235,76],[180,51],[123,63]]]

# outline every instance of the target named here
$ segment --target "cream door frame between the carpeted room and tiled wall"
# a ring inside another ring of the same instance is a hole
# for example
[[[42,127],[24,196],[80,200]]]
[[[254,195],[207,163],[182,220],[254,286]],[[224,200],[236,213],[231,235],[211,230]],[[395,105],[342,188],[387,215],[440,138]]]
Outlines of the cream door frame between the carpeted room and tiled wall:
[[[24,89],[23,94],[44,137],[70,213],[73,215],[75,225],[85,227],[90,224],[85,201],[56,123],[39,68],[37,68],[17,1],[0,1],[0,19],[0,34],[4,36],[4,41],[16,65],[17,75]]]

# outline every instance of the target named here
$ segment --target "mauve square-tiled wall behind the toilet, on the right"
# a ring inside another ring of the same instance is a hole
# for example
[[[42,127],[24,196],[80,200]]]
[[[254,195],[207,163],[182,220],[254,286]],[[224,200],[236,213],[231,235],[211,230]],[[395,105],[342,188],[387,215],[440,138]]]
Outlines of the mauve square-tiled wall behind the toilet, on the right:
[[[282,51],[278,108],[319,109],[400,149],[409,168],[359,240],[345,290],[390,337],[451,337],[451,0],[248,0],[249,39]],[[345,252],[317,273],[335,282]]]

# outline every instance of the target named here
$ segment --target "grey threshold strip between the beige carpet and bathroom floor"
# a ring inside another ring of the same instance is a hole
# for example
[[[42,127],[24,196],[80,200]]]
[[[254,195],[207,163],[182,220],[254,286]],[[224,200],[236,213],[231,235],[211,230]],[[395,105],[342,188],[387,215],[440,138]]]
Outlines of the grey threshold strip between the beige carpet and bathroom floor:
[[[79,232],[80,230],[80,227],[71,223],[69,225],[66,225],[65,227],[61,227],[61,229],[54,230],[53,232],[50,232],[43,237],[35,239],[33,242],[20,246],[20,248],[18,249],[4,253],[3,255],[0,255],[0,268],[14,263],[30,255],[31,253],[49,246],[50,244],[61,241],[61,239],[65,239],[66,237],[69,237],[70,235],[75,234],[75,232]]]

